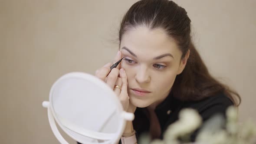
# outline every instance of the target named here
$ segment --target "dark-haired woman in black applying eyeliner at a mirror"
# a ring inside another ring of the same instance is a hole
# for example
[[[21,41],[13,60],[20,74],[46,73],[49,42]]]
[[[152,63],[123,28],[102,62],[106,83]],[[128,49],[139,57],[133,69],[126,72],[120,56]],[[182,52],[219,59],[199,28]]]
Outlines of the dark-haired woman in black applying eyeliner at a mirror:
[[[125,14],[115,57],[124,57],[121,65],[110,71],[108,63],[95,73],[135,113],[121,143],[135,143],[135,132],[163,138],[182,108],[196,109],[206,121],[240,104],[240,96],[208,72],[191,41],[190,22],[186,10],[169,0],[141,0]]]

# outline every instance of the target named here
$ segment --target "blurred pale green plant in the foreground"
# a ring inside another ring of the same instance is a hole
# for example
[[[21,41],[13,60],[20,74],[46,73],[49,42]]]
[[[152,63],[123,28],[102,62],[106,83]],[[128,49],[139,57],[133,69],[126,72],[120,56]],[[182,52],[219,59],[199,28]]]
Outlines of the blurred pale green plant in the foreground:
[[[144,134],[138,144],[188,144],[184,141],[190,141],[190,135],[200,126],[194,144],[256,144],[256,124],[249,120],[239,126],[237,115],[237,108],[230,106],[226,111],[226,121],[222,115],[214,115],[201,125],[202,118],[197,111],[183,109],[179,120],[165,131],[163,140],[150,142],[150,136]]]

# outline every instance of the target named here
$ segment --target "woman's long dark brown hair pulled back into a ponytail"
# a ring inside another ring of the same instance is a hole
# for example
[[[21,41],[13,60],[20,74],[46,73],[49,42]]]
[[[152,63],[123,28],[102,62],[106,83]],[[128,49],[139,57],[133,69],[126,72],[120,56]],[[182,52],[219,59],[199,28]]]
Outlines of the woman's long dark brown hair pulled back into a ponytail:
[[[182,101],[197,101],[224,93],[238,106],[240,95],[214,79],[191,41],[191,20],[184,8],[169,0],[140,0],[133,4],[121,21],[119,42],[131,28],[147,26],[162,28],[175,39],[184,58],[188,50],[190,57],[183,72],[177,75],[171,92]]]

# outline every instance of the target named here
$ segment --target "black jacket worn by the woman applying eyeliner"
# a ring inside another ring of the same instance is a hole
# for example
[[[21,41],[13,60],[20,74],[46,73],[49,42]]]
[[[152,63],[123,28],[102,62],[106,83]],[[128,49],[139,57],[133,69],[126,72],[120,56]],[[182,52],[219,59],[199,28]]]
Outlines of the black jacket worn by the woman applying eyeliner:
[[[211,116],[215,114],[223,115],[226,118],[226,109],[233,105],[233,102],[226,97],[224,94],[219,94],[209,98],[204,98],[200,101],[180,101],[177,98],[168,95],[168,97],[156,107],[155,113],[158,117],[158,121],[161,126],[161,136],[163,138],[163,133],[167,127],[178,120],[178,114],[183,108],[193,108],[199,112],[203,121],[206,121]],[[150,122],[145,114],[145,108],[137,108],[135,111],[135,120],[133,121],[133,126],[137,132],[137,137],[144,132],[149,132]],[[195,131],[190,139],[191,141],[195,140],[197,136],[197,131]]]

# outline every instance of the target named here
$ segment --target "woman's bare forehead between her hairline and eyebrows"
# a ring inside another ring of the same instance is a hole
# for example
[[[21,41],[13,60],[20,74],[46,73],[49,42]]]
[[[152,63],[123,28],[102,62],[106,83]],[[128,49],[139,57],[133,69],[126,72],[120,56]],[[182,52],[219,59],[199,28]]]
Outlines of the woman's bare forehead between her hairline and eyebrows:
[[[167,36],[161,28],[133,28],[122,36],[120,48],[123,47],[138,55],[158,56],[171,53],[174,56],[181,54],[174,39]]]

